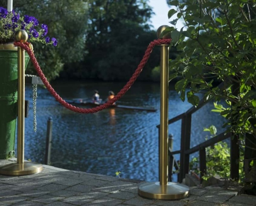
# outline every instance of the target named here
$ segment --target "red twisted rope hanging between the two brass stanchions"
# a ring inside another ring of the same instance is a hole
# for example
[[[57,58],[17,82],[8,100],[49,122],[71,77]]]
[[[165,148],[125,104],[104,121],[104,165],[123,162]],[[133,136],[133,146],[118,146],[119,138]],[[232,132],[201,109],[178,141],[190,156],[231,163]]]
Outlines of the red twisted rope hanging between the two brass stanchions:
[[[132,77],[129,79],[129,81],[125,84],[125,86],[117,93],[117,95],[114,96],[113,99],[109,100],[108,102],[101,104],[97,107],[94,108],[79,108],[79,107],[75,107],[72,104],[69,104],[67,102],[65,102],[65,100],[63,100],[56,91],[54,91],[54,89],[52,88],[52,86],[50,85],[50,83],[47,81],[47,79],[45,78],[44,73],[42,72],[37,59],[35,58],[35,55],[33,53],[33,51],[29,48],[29,43],[21,43],[21,42],[14,42],[14,45],[17,47],[21,47],[23,49],[25,49],[25,51],[27,52],[27,54],[29,54],[30,59],[35,67],[35,70],[37,71],[38,76],[41,78],[42,82],[44,83],[44,85],[46,86],[47,90],[53,95],[53,97],[60,103],[62,104],[64,107],[68,108],[69,110],[72,110],[74,112],[79,112],[79,113],[83,113],[83,114],[89,114],[89,113],[94,113],[94,112],[98,112],[101,111],[109,106],[111,106],[114,102],[116,102],[118,99],[120,99],[125,92],[127,92],[129,90],[129,88],[132,86],[132,84],[135,82],[135,80],[138,78],[140,72],[142,72],[142,69],[144,67],[144,65],[147,63],[148,58],[150,57],[150,53],[152,52],[153,48],[155,45],[161,45],[161,44],[170,44],[171,39],[158,39],[158,40],[154,40],[151,41],[150,44],[148,45],[145,54],[142,58],[142,60],[140,61],[137,69],[135,70],[135,72],[133,73]]]

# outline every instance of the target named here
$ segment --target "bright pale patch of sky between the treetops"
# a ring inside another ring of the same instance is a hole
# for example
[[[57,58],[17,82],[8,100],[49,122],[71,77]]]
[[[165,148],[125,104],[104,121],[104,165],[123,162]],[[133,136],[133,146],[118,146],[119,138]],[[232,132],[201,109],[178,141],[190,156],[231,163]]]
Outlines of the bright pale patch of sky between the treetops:
[[[148,4],[153,8],[155,15],[152,15],[151,21],[154,28],[157,30],[162,25],[168,25],[170,27],[174,26],[169,23],[169,21],[176,18],[175,15],[171,19],[168,19],[168,12],[171,9],[167,5],[166,0],[149,0]],[[180,29],[183,26],[182,23],[178,22],[177,29]]]

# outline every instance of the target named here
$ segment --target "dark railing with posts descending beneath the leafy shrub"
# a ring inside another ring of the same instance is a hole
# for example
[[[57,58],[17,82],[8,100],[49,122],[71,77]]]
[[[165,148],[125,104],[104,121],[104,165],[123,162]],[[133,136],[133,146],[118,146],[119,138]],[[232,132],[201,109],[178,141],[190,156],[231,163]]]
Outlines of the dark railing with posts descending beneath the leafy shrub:
[[[219,87],[222,87],[223,84],[220,84]],[[207,173],[206,171],[206,148],[209,146],[214,145],[222,140],[230,138],[230,178],[231,179],[238,179],[239,178],[239,144],[238,144],[238,137],[233,135],[232,133],[221,133],[209,140],[206,140],[203,143],[196,145],[195,147],[190,147],[190,140],[191,140],[191,121],[192,121],[192,114],[195,113],[197,110],[202,108],[205,104],[207,104],[211,99],[200,100],[197,107],[193,106],[189,108],[186,112],[175,116],[172,119],[168,120],[168,125],[178,120],[181,120],[181,140],[180,140],[180,150],[170,151],[169,150],[169,179],[172,176],[173,166],[178,168],[177,161],[173,157],[174,154],[180,154],[180,165],[179,165],[179,173],[178,173],[178,182],[182,182],[182,179],[185,178],[185,174],[189,173],[189,155],[199,151],[199,168],[200,168],[200,177]],[[159,130],[159,126],[157,128]],[[159,133],[159,132],[158,132]],[[202,181],[202,178],[201,178]]]

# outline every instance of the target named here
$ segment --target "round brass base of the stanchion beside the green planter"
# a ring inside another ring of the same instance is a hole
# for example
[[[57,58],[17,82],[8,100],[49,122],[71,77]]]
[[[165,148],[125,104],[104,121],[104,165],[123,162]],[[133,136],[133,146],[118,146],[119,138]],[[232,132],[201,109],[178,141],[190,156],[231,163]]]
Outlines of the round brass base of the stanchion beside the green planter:
[[[43,166],[34,162],[10,163],[0,167],[0,174],[3,175],[29,175],[40,173]]]

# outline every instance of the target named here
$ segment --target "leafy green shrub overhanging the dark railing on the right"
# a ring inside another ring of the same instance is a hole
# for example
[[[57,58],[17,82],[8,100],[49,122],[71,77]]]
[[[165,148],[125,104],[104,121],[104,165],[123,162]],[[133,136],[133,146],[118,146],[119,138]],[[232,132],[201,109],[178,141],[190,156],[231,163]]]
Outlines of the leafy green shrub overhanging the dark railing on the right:
[[[256,8],[254,1],[217,0],[183,2],[170,1],[173,8],[170,23],[179,19],[185,26],[171,33],[172,45],[180,51],[170,61],[170,68],[181,79],[175,89],[182,101],[187,99],[197,106],[198,93],[204,99],[214,98],[215,110],[227,119],[227,131],[256,138]],[[223,83],[222,87],[217,87]],[[189,91],[185,92],[185,90]],[[229,105],[218,104],[225,99]]]

